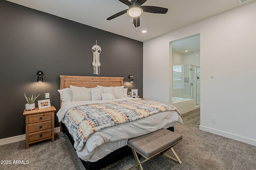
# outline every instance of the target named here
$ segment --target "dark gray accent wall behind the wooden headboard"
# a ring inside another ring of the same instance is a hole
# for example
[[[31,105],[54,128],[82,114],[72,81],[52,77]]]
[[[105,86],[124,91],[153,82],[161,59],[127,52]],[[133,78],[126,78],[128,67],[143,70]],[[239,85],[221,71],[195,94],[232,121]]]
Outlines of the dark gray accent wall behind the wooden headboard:
[[[0,0],[0,139],[25,134],[24,93],[40,94],[38,100],[50,93],[58,111],[59,75],[94,76],[96,40],[102,49],[99,76],[124,77],[124,86],[138,88],[142,97],[142,42]],[[38,70],[42,83],[36,82]]]

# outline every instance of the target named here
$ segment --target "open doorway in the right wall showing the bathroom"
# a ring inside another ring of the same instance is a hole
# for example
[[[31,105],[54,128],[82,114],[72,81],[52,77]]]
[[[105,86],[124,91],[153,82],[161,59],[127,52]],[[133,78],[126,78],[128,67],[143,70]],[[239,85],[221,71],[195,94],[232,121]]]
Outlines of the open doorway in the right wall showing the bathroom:
[[[172,105],[181,114],[200,108],[200,34],[172,41]]]

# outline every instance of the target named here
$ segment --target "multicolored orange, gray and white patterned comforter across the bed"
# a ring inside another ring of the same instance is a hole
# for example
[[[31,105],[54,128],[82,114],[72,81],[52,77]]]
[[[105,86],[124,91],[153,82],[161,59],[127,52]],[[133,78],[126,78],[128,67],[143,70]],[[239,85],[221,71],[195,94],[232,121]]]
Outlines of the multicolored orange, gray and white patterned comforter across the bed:
[[[96,131],[171,110],[180,115],[178,109],[169,104],[148,100],[123,100],[72,107],[68,109],[64,119],[74,137],[74,147],[80,151],[88,137]]]

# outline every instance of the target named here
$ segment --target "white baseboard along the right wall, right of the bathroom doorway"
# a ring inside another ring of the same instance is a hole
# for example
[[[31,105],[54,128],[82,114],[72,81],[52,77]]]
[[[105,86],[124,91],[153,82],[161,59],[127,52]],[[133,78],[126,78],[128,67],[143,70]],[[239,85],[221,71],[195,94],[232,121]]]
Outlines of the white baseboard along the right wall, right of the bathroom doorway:
[[[254,140],[254,139],[242,137],[242,136],[235,135],[235,134],[232,134],[232,133],[227,133],[227,132],[224,132],[224,131],[219,131],[219,130],[212,129],[210,127],[205,127],[205,126],[202,126],[202,125],[199,126],[199,129],[202,130],[202,131],[214,133],[216,135],[220,135],[220,136],[223,136],[223,137],[234,139],[236,141],[240,141],[240,142],[244,142],[244,143],[248,143],[250,145],[256,146],[256,140]]]

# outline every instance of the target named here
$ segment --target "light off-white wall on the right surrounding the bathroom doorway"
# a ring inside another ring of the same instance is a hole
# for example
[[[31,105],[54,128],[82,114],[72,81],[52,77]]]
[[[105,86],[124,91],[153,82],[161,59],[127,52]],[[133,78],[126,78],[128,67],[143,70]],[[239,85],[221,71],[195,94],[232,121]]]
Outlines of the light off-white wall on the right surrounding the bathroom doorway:
[[[256,145],[255,9],[251,2],[144,42],[144,98],[171,101],[169,42],[200,33],[200,129]]]

